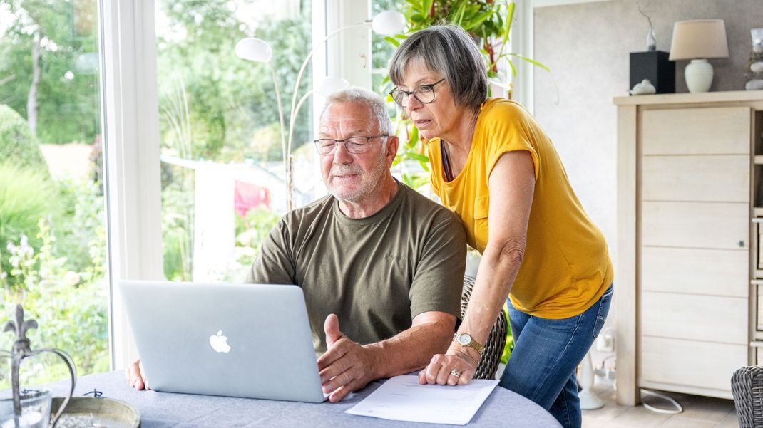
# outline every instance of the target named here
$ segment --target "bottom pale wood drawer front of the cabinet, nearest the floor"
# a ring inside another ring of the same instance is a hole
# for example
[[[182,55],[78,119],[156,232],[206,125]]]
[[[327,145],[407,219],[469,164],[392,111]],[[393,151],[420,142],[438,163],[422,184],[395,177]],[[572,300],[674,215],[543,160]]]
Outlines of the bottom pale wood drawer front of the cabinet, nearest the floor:
[[[747,345],[642,337],[643,381],[731,391],[731,375],[748,365]]]

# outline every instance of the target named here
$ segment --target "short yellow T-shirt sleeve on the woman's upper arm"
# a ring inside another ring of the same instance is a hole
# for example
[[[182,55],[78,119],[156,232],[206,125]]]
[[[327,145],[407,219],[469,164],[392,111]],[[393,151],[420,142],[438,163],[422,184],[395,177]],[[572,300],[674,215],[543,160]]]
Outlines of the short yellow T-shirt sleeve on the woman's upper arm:
[[[534,129],[537,125],[530,117],[530,113],[518,105],[501,104],[488,113],[485,126],[487,127],[485,136],[488,136],[485,147],[488,177],[504,153],[526,150],[533,158],[535,179],[538,180],[541,165],[536,145],[533,144],[533,133],[539,129]]]

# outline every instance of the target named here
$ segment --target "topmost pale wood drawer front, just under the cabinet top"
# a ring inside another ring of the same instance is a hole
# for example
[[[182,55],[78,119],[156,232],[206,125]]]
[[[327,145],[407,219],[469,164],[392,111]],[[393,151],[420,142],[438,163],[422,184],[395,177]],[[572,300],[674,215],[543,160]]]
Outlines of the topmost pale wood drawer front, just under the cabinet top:
[[[644,155],[745,155],[750,107],[677,108],[642,113]]]

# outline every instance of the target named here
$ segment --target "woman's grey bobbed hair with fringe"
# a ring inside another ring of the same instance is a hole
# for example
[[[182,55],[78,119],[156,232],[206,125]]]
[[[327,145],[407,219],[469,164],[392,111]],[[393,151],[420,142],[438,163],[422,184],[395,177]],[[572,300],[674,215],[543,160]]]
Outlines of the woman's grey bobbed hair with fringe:
[[[433,25],[404,40],[389,65],[394,85],[401,85],[411,61],[420,61],[430,72],[442,75],[459,106],[478,111],[488,99],[485,60],[475,41],[461,27]]]

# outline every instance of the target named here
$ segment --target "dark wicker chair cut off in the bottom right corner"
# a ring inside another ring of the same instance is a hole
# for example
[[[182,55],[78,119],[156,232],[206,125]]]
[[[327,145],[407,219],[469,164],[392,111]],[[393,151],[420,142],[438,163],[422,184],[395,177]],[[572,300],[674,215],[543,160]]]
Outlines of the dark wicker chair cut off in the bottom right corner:
[[[763,426],[763,366],[742,367],[731,376],[739,428]]]

